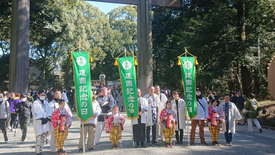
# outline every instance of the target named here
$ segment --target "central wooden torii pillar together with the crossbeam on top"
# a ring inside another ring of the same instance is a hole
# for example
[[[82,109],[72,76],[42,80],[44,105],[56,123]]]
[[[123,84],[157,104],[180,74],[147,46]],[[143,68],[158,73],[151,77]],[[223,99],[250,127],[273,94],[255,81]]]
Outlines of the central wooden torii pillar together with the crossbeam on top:
[[[153,86],[152,6],[180,7],[181,0],[89,0],[137,5],[137,86],[148,93]]]

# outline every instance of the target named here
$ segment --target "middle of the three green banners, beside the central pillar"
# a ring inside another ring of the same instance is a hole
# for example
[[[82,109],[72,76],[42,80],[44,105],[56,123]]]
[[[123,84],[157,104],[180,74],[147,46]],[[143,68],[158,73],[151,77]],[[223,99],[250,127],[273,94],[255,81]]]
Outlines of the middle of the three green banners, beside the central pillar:
[[[138,103],[134,57],[122,57],[117,60],[127,117],[135,119],[138,117]]]

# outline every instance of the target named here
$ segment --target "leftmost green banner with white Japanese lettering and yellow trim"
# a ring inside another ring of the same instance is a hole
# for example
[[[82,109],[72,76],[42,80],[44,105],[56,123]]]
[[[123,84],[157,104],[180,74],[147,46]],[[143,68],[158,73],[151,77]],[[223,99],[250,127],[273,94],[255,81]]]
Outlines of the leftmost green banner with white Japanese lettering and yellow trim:
[[[71,59],[74,69],[76,117],[86,123],[93,116],[90,53],[72,52]]]

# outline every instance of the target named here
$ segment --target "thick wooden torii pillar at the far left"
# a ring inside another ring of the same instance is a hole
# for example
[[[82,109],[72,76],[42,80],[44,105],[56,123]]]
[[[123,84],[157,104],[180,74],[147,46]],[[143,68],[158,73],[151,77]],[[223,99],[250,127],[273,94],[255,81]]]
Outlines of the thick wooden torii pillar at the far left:
[[[11,45],[9,54],[9,92],[29,89],[30,0],[11,2]]]

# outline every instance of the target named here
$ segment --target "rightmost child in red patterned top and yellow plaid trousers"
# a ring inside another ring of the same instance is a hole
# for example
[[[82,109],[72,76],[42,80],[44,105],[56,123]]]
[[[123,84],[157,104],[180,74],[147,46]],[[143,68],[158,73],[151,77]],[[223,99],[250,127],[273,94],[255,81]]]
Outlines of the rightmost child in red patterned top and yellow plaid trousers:
[[[212,105],[208,108],[208,127],[211,133],[212,143],[214,146],[221,146],[218,143],[218,136],[220,133],[220,123],[224,122],[223,112],[217,106],[218,102],[216,99],[211,100]]]

